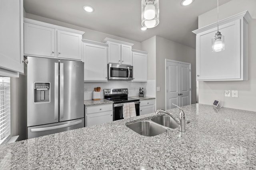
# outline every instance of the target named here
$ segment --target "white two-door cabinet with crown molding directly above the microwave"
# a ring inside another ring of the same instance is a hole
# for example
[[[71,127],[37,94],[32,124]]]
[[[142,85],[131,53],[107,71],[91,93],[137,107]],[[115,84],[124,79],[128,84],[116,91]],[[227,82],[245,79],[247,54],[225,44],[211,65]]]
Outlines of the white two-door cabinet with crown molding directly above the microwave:
[[[102,42],[108,44],[108,63],[132,65],[134,44],[111,38],[105,38]]]

